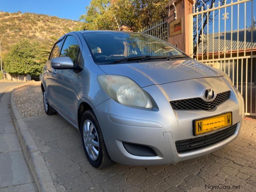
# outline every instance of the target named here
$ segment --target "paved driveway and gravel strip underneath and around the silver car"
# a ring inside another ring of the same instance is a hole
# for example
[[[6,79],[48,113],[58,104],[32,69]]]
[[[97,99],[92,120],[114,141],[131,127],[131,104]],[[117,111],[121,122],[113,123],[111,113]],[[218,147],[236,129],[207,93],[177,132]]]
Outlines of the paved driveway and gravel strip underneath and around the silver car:
[[[19,99],[18,91],[15,102],[58,191],[200,192],[219,185],[226,189],[213,191],[256,191],[256,120],[245,120],[235,141],[203,157],[174,165],[114,164],[97,170],[86,160],[79,132],[59,115],[43,115],[39,85],[22,89],[27,95],[33,94],[36,100],[31,97]]]

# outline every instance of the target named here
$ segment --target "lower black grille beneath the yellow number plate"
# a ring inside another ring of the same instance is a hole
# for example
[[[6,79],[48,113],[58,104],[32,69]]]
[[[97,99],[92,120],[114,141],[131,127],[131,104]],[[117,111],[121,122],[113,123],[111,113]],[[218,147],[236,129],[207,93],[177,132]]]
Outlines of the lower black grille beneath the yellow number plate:
[[[176,141],[176,149],[178,153],[186,153],[214,145],[234,135],[236,126],[237,124],[209,135]]]

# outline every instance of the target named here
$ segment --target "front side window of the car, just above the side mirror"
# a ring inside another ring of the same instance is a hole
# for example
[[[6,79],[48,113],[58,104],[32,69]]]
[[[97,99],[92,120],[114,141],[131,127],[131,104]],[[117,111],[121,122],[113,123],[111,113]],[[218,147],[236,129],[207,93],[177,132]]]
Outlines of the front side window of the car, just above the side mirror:
[[[67,36],[62,46],[60,56],[70,57],[70,59],[73,61],[75,65],[78,49],[79,49],[79,45],[76,41],[76,38],[74,36]]]

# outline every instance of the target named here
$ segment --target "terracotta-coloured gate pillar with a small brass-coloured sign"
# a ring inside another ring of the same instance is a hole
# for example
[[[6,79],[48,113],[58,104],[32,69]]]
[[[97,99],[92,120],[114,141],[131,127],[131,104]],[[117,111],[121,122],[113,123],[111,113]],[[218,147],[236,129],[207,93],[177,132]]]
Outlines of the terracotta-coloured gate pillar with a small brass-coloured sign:
[[[192,16],[190,14],[192,13],[193,0],[173,0],[173,2],[176,7],[176,19],[172,0],[170,4],[165,4],[165,8],[168,11],[170,8],[170,14],[168,15],[168,42],[188,55],[191,55],[193,53],[191,50],[193,23],[191,24]]]

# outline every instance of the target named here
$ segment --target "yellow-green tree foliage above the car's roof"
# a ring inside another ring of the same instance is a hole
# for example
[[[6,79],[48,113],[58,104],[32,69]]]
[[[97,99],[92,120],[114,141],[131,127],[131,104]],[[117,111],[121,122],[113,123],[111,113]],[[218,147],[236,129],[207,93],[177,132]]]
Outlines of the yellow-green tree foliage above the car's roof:
[[[87,30],[117,30],[119,24],[138,31],[167,16],[168,0],[92,0],[80,20]],[[116,17],[116,20],[115,20]]]

